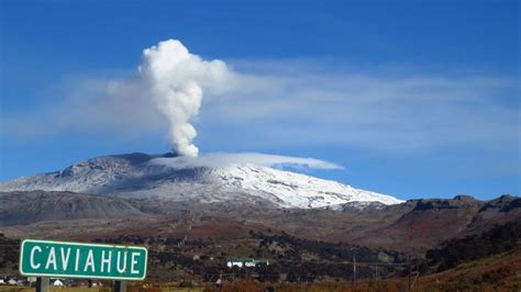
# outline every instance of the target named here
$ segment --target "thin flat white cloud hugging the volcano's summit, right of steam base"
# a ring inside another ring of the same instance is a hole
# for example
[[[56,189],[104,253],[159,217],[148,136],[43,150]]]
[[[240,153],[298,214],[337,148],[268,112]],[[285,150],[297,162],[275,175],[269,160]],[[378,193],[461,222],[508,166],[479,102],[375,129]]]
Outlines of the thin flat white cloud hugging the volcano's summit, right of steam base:
[[[231,165],[254,165],[265,167],[303,167],[312,169],[343,169],[339,165],[315,158],[301,158],[260,153],[210,153],[201,155],[199,157],[179,156],[168,158],[155,158],[151,162],[157,165],[165,165],[175,169],[197,167],[226,167]]]

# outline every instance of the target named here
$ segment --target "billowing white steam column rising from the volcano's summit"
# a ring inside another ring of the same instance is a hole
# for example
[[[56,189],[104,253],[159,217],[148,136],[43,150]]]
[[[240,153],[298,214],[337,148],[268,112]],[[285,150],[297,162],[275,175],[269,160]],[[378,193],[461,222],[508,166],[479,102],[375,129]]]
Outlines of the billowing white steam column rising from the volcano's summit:
[[[223,61],[206,61],[190,54],[179,41],[168,40],[143,50],[140,74],[168,120],[173,149],[196,157],[199,149],[192,141],[197,131],[190,119],[199,113],[203,89],[223,87],[232,72]]]

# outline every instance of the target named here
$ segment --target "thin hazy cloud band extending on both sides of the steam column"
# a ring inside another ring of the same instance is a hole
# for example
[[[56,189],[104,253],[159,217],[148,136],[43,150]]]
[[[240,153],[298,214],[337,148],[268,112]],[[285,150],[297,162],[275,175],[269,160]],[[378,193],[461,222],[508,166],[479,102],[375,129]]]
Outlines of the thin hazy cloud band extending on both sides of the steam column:
[[[226,61],[233,81],[202,101],[206,148],[348,146],[411,151],[454,146],[514,149],[519,81],[476,74],[347,67],[320,60]],[[3,136],[165,133],[165,120],[133,78],[85,80],[47,108],[8,114]]]

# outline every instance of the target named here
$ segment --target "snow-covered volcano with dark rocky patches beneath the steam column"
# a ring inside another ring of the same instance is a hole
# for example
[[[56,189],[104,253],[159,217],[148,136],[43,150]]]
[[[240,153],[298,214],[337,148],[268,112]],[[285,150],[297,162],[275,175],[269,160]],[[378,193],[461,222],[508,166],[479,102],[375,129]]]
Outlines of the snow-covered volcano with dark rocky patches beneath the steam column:
[[[62,171],[1,183],[0,191],[71,191],[202,203],[247,200],[301,209],[402,202],[390,195],[265,166],[229,164],[175,168],[169,159],[175,157],[138,153],[97,157]]]

